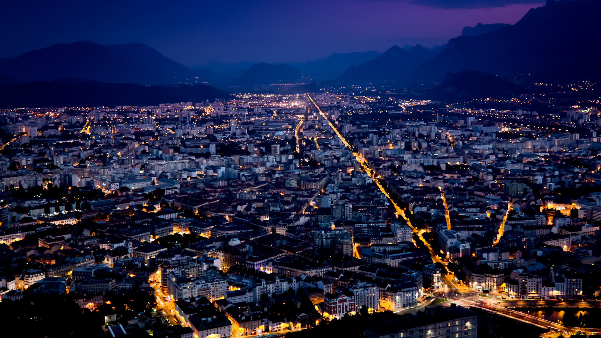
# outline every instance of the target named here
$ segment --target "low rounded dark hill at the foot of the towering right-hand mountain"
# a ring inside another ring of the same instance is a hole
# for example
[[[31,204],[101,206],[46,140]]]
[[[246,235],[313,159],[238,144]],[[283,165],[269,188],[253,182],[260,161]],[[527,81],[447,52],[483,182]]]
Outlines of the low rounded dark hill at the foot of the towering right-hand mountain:
[[[519,85],[496,75],[475,70],[462,70],[457,73],[447,73],[442,84],[434,88],[431,97],[447,102],[460,102],[470,99],[511,96],[519,89]]]

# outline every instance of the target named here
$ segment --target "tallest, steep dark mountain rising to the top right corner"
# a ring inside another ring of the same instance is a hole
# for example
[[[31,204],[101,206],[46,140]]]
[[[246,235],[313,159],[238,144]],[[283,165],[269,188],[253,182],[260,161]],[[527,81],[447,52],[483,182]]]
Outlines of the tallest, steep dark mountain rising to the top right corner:
[[[419,65],[409,80],[441,82],[445,74],[478,70],[500,76],[552,70],[599,55],[601,1],[549,0],[515,25],[483,35],[452,38],[436,58]],[[577,52],[582,51],[582,52]]]

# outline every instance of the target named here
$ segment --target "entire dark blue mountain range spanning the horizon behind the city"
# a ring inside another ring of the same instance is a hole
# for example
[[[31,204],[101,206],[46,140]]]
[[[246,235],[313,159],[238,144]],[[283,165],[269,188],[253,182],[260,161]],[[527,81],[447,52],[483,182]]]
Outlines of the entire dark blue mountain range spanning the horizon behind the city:
[[[140,43],[103,46],[78,41],[0,58],[0,85],[12,84],[26,90],[27,87],[17,84],[103,82],[179,85],[177,88],[184,90],[188,87],[182,87],[183,84],[202,83],[221,88],[308,83],[310,88],[316,88],[313,83],[316,81],[321,87],[442,83],[445,87],[440,88],[441,93],[459,94],[463,91],[457,88],[467,85],[464,79],[495,88],[499,87],[499,79],[513,82],[598,79],[601,46],[597,41],[601,40],[601,26],[596,24],[597,13],[601,13],[598,0],[548,0],[546,5],[529,10],[514,25],[467,26],[462,35],[436,49],[421,45],[392,46],[382,54],[334,53],[321,60],[287,64],[212,61],[192,69]],[[460,73],[463,71],[475,73]],[[96,87],[102,86],[96,84]],[[469,94],[476,88],[464,89]],[[0,102],[8,92],[6,87],[4,93],[0,92]]]

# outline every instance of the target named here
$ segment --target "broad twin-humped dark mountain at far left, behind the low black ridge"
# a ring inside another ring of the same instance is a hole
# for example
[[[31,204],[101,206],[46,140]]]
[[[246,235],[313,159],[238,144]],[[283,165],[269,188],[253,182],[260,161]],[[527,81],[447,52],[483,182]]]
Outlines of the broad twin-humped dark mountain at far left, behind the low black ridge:
[[[189,69],[146,45],[102,46],[92,41],[59,43],[16,58],[1,59],[0,74],[19,82],[61,78],[142,85],[212,81],[209,79],[212,73],[208,70]],[[207,80],[201,76],[206,76]]]

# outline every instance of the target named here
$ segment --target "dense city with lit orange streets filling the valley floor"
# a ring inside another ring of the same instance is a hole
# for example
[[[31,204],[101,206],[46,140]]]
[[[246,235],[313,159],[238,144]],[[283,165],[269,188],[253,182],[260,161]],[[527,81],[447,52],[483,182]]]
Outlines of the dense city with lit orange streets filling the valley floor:
[[[547,110],[344,90],[5,110],[1,305],[74,302],[96,335],[597,333],[563,308],[601,295],[601,119]]]

